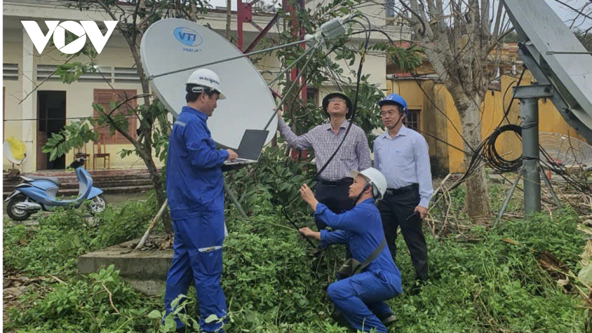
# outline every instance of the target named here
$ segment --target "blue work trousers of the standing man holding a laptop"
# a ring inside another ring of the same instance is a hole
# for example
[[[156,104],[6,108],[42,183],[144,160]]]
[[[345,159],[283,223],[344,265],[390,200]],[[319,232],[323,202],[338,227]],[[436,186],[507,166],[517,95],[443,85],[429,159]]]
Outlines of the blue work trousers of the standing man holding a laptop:
[[[220,287],[224,212],[175,219],[172,224],[174,253],[166,276],[165,312],[168,314],[173,310],[171,302],[180,294],[186,295],[193,281],[200,308],[200,328],[214,332],[220,329],[221,322],[206,323],[205,319],[210,315],[218,318],[226,315],[226,300]],[[175,321],[177,328],[183,326],[178,318]]]

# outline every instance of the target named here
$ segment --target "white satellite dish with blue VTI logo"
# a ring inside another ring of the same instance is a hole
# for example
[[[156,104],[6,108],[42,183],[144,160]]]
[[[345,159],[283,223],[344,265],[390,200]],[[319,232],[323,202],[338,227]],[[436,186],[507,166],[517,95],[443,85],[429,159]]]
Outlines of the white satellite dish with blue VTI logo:
[[[156,21],[140,43],[142,65],[148,78],[152,78],[152,88],[175,116],[186,105],[185,82],[196,66],[242,55],[215,31],[179,18]],[[226,100],[218,101],[218,107],[208,119],[212,138],[218,145],[236,149],[245,130],[265,129],[276,107],[275,101],[265,79],[246,57],[205,68],[220,76],[220,88],[227,96]],[[174,71],[179,72],[163,75]],[[275,136],[277,124],[277,118],[273,117],[266,129],[269,135],[265,143]]]

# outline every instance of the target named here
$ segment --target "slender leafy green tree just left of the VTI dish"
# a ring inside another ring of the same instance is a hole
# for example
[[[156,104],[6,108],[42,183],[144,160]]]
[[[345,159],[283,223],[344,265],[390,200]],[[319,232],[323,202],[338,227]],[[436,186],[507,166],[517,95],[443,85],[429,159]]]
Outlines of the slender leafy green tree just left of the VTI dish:
[[[144,31],[157,20],[174,17],[195,21],[199,13],[205,13],[207,4],[207,1],[202,0],[127,0],[125,2],[76,0],[67,4],[67,7],[78,8],[81,11],[104,12],[111,20],[119,21],[115,30],[126,41],[133,58],[134,68],[137,69],[140,76],[141,94],[120,97],[121,102],[111,103],[110,110],[105,110],[102,105],[92,104],[98,117],[87,117],[67,125],[60,133],[55,133],[47,140],[43,152],[50,153],[51,159],[57,158],[72,148],[80,147],[91,140],[96,141],[97,133],[94,130],[96,126],[108,126],[111,135],[118,132],[133,145],[131,150],[123,149],[121,156],[135,153],[142,159],[150,172],[158,204],[162,206],[166,200],[164,182],[156,168],[153,156],[158,156],[161,161],[165,159],[170,123],[167,120],[166,108],[158,100],[150,98],[149,80],[140,60],[140,40]],[[81,58],[88,59],[88,61],[70,61]],[[85,48],[59,66],[56,75],[59,75],[64,83],[71,84],[77,81],[83,73],[96,72],[97,65],[96,52],[90,44],[86,44]],[[143,105],[126,108],[125,112],[115,112],[133,99],[143,100]],[[127,131],[131,117],[137,117],[139,122],[137,137],[130,136]],[[165,232],[172,233],[170,217],[167,213],[163,214],[163,222]]]

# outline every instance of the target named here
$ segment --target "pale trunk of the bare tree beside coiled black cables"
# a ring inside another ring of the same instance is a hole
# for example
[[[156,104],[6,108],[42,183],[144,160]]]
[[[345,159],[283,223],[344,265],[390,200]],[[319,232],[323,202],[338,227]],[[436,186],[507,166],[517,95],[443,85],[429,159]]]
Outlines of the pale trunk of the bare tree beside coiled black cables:
[[[469,167],[473,157],[472,152],[481,143],[481,99],[475,94],[472,98],[463,94],[462,97],[453,98],[456,101],[456,108],[461,117],[461,131],[464,142],[464,164]],[[470,145],[470,147],[469,147]],[[481,161],[476,161],[481,164]],[[490,216],[489,196],[487,192],[487,181],[485,178],[485,167],[475,169],[466,179],[465,204],[466,212],[475,222],[484,222]]]

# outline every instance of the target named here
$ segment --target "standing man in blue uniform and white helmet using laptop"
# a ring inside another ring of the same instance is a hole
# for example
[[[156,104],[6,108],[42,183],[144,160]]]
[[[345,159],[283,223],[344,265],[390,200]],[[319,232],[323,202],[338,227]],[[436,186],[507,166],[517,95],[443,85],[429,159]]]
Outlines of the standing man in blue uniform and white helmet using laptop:
[[[194,282],[200,308],[202,332],[220,329],[221,321],[206,323],[211,315],[226,315],[226,300],[220,287],[224,241],[224,191],[221,165],[237,158],[230,149],[216,149],[208,117],[218,99],[220,78],[209,69],[193,72],[185,85],[187,105],[173,124],[166,158],[166,196],[175,241],[173,261],[166,277],[165,312],[171,302],[186,295]],[[185,327],[175,318],[177,330]],[[217,331],[221,332],[221,331]]]

